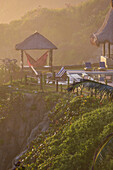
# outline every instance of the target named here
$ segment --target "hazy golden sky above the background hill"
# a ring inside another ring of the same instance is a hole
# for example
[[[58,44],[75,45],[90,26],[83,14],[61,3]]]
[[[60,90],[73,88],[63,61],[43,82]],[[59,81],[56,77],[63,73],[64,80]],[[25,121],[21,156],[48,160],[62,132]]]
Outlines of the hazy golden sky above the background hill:
[[[27,11],[39,8],[63,8],[84,0],[0,0],[0,23],[19,19]]]

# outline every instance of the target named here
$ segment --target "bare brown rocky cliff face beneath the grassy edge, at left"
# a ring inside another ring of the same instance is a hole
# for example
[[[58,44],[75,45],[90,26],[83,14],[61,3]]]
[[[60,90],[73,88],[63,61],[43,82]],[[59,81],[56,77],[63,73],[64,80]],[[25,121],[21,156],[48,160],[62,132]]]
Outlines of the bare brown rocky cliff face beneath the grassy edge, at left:
[[[10,115],[0,123],[0,170],[10,169],[14,158],[41,129],[48,127],[43,95],[25,94],[23,100],[16,101],[12,107]]]

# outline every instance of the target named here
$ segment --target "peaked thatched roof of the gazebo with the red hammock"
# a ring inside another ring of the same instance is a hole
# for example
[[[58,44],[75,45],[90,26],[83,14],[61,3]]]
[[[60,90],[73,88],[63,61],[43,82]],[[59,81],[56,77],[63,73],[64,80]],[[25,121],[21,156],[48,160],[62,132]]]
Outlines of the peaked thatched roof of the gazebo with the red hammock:
[[[57,47],[38,32],[35,32],[21,43],[16,44],[16,50],[34,50],[34,49],[46,50],[57,49]]]

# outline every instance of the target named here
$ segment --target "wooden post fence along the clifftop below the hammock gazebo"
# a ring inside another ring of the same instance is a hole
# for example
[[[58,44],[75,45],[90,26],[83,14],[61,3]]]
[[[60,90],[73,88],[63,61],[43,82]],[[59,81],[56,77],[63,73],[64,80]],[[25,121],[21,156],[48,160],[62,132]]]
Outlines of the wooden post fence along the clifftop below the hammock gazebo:
[[[2,76],[2,75],[1,75]],[[2,81],[0,82],[1,84],[14,84],[15,82],[17,84],[23,84],[26,86],[32,87],[32,89],[37,89],[40,92],[61,92],[61,93],[67,93],[67,88],[70,86],[70,81],[69,78],[67,78],[66,81],[61,82],[59,79],[55,79],[55,74],[51,78],[47,77],[47,74],[42,74],[40,73],[39,76],[33,76],[33,74],[29,74],[28,72],[15,72],[15,73],[8,73],[6,72],[2,76]],[[29,87],[28,87],[29,88]],[[73,93],[76,93],[76,95],[90,95],[90,96],[96,96],[96,92],[92,90],[85,90],[83,91],[83,88],[76,88]]]

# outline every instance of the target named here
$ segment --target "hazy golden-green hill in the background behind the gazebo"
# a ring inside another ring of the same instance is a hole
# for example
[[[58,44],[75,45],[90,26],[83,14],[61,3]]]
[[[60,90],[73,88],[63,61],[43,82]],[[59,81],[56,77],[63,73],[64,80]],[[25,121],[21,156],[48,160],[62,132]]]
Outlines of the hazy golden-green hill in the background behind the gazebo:
[[[81,64],[100,55],[89,42],[90,35],[102,24],[109,9],[106,0],[89,0],[76,7],[38,9],[28,12],[20,20],[0,24],[0,58],[18,58],[15,44],[36,30],[51,40],[55,65]],[[33,52],[39,56],[40,52]]]

